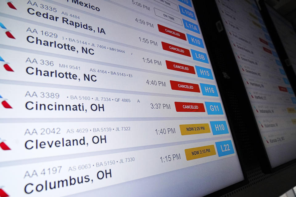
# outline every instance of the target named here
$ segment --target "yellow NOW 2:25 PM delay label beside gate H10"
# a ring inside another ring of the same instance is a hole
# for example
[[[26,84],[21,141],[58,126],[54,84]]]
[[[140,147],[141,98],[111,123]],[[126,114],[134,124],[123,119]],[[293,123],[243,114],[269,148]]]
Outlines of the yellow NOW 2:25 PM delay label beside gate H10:
[[[205,124],[180,124],[181,135],[193,135],[200,133],[211,133],[208,123]]]

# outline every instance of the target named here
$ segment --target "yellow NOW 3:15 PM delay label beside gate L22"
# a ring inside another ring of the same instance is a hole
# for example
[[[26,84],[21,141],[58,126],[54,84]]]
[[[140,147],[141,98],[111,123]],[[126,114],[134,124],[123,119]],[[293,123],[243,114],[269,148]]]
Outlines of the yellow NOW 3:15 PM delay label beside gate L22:
[[[202,157],[208,157],[211,155],[216,155],[215,146],[209,145],[204,147],[188,148],[185,149],[185,155],[187,161],[192,159],[199,159]]]

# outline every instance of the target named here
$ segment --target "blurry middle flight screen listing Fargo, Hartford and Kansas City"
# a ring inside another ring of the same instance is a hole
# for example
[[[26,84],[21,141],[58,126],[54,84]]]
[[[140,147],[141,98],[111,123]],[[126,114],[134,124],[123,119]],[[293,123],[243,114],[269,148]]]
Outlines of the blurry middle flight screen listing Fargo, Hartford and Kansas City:
[[[255,1],[216,4],[270,165],[277,167],[296,158],[295,94]]]

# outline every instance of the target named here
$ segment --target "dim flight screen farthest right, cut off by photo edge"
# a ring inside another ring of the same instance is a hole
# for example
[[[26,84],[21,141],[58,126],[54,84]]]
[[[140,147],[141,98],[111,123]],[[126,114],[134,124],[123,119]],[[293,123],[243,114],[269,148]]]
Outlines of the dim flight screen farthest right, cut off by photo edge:
[[[282,41],[290,63],[296,73],[296,33],[292,24],[283,16],[277,13],[271,6],[265,4],[273,24]]]

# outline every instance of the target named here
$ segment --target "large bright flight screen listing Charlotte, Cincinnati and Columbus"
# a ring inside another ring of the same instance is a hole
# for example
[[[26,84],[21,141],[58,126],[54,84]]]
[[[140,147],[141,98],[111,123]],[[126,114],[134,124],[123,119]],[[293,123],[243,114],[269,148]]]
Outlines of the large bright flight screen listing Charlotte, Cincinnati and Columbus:
[[[1,1],[0,25],[1,196],[244,180],[191,1]]]

